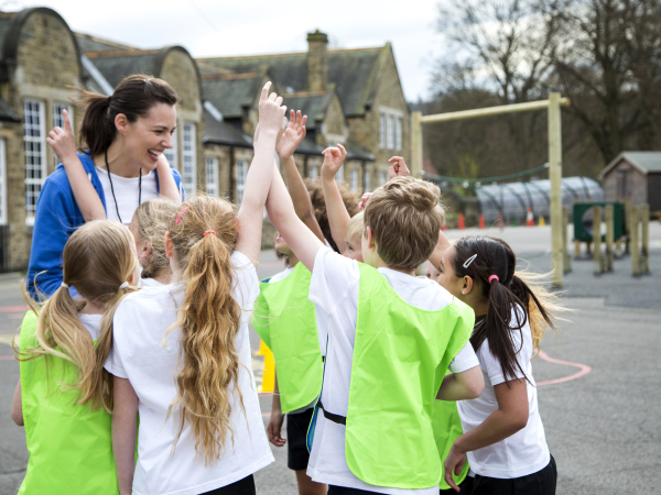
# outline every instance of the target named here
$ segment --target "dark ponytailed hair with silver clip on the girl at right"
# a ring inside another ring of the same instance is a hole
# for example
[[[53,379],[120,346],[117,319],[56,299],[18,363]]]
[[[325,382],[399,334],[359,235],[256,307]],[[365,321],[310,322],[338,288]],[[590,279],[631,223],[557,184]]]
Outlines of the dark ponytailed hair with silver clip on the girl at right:
[[[517,360],[523,345],[522,328],[530,319],[533,348],[538,348],[540,332],[543,334],[540,323],[554,328],[552,316],[529,285],[514,274],[517,257],[507,242],[489,237],[467,237],[458,240],[454,248],[452,265],[455,274],[473,278],[476,289],[488,300],[484,322],[476,324],[470,337],[473,348],[477,351],[488,339],[489,350],[499,361],[506,382],[513,380],[518,372],[525,375]],[[477,256],[467,263],[474,255]],[[513,331],[521,333],[519,346],[514,345]]]

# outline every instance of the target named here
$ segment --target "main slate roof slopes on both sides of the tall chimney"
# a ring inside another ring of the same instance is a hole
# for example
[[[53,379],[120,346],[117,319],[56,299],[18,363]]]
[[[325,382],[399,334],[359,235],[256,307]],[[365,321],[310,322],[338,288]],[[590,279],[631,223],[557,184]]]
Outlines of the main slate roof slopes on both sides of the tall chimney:
[[[329,50],[328,82],[335,84],[347,117],[362,116],[376,95],[378,74],[390,53],[390,43],[376,48]],[[307,54],[290,53],[242,57],[202,58],[205,65],[235,73],[268,68],[281,88],[291,91],[307,89]]]

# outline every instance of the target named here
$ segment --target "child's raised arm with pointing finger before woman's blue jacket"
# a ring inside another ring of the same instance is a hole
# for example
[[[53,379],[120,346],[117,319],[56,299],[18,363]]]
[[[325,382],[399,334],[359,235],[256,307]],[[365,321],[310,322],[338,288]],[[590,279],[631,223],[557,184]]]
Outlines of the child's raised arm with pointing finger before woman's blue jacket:
[[[96,189],[89,182],[83,163],[76,150],[76,140],[72,131],[72,122],[66,110],[62,110],[64,129],[55,128],[46,138],[46,143],[53,148],[64,165],[76,204],[86,222],[105,220],[106,210]]]

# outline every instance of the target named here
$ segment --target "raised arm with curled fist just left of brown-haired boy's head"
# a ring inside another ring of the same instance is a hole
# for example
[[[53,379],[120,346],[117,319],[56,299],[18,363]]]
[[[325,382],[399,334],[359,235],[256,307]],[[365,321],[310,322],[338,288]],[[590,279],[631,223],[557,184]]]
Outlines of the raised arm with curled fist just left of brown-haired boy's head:
[[[335,175],[347,157],[347,151],[342,144],[338,144],[337,147],[327,147],[323,154],[322,187],[324,188],[324,198],[328,212],[328,224],[330,226],[330,234],[335,244],[337,244],[339,252],[344,253],[347,249],[347,223],[349,223],[351,217],[349,217],[349,212],[339,194]]]

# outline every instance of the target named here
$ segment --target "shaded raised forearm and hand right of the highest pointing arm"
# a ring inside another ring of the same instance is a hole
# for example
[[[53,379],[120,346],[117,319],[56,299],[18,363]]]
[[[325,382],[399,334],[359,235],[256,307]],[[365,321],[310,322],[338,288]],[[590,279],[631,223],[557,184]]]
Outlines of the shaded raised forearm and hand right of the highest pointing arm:
[[[301,110],[295,113],[293,110],[290,112],[290,123],[275,146],[275,151],[280,157],[282,168],[284,169],[284,177],[296,215],[303,220],[303,223],[319,238],[319,240],[324,241],[324,233],[314,216],[314,208],[312,207],[310,194],[307,193],[307,188],[305,187],[301,174],[299,174],[299,168],[296,168],[293,156],[296,147],[299,147],[299,144],[301,144],[301,141],[305,138],[305,122],[307,121],[307,116],[301,116]]]

